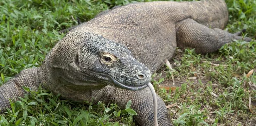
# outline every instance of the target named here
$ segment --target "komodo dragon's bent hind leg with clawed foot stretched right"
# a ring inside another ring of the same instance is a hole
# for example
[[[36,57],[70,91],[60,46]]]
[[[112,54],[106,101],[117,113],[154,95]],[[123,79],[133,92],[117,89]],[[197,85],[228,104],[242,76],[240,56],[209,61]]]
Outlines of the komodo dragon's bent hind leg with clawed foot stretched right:
[[[238,36],[218,28],[208,28],[193,19],[186,19],[175,24],[177,46],[181,48],[192,47],[197,53],[210,53],[217,51],[222,45],[233,39],[251,41],[249,37]]]

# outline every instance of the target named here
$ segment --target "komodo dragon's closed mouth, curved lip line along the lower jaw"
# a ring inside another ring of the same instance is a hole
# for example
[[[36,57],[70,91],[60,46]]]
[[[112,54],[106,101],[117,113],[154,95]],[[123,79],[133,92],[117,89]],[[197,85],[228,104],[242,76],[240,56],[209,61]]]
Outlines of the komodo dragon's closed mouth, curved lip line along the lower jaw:
[[[131,85],[126,85],[126,84],[119,82],[118,80],[111,77],[110,75],[107,75],[104,73],[102,75],[109,78],[115,84],[116,87],[119,87],[121,89],[137,91],[137,90],[145,89],[147,87],[147,83],[145,83],[144,85],[140,85],[140,86],[131,86]]]

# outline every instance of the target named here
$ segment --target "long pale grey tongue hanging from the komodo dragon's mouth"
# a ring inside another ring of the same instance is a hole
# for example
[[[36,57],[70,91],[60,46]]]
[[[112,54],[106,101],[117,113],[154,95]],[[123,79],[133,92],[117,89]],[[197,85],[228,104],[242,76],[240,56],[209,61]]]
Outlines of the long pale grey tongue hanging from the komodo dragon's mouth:
[[[152,96],[153,96],[153,105],[154,105],[154,124],[155,126],[158,126],[158,122],[157,122],[157,101],[156,101],[156,93],[155,93],[155,89],[153,87],[153,85],[148,82],[147,83],[151,93],[152,93]]]

